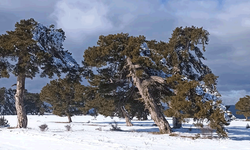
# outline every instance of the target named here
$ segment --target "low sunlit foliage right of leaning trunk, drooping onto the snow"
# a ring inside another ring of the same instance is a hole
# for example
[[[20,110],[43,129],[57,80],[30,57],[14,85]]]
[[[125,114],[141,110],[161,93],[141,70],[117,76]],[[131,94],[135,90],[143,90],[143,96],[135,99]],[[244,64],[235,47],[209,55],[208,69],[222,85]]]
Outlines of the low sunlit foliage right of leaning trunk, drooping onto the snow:
[[[203,121],[209,122],[209,126],[215,129],[219,136],[227,137],[224,126],[228,125],[224,118],[224,112],[219,108],[221,101],[216,103],[204,99],[204,94],[198,94],[196,87],[198,81],[185,80],[181,75],[173,75],[167,79],[167,83],[176,91],[175,95],[165,99],[169,109],[164,113],[166,116],[175,116],[182,121],[185,118],[194,118],[197,124],[203,126]],[[214,83],[211,85],[214,85]]]

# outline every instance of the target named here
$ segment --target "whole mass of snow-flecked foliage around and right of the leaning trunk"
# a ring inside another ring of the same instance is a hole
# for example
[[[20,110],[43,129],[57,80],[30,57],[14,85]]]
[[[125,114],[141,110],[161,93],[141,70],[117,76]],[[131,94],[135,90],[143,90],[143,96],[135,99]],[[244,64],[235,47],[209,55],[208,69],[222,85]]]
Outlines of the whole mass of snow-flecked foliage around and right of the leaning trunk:
[[[132,81],[131,74],[134,73],[139,78],[136,82],[147,86],[159,108],[160,102],[168,104],[169,109],[165,112],[167,116],[175,116],[181,120],[186,117],[194,117],[198,121],[207,119],[211,121],[210,127],[226,136],[226,132],[222,131],[226,122],[223,117],[218,117],[223,111],[215,103],[217,99],[206,97],[206,93],[218,93],[218,77],[202,62],[205,60],[203,52],[208,44],[208,35],[203,28],[194,26],[177,27],[168,43],[148,41],[141,35],[101,35],[97,46],[89,47],[84,52],[83,64],[96,67],[97,73],[91,75],[89,83],[96,88],[100,101],[111,102],[112,99],[113,105],[115,102],[122,102],[126,109],[130,109],[130,102],[142,99],[138,87],[134,85],[135,81]],[[141,48],[145,43],[149,50]],[[128,67],[127,58],[136,67],[135,72]],[[152,76],[165,81],[152,80]],[[198,87],[203,90],[200,94],[196,90]],[[115,106],[119,108],[119,105]]]

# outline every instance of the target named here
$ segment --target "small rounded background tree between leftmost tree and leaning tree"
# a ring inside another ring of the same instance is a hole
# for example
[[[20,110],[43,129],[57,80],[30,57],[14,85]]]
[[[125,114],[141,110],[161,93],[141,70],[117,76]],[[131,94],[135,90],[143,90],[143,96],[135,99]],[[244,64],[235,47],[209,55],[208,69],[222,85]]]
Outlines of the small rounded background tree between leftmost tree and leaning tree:
[[[67,78],[52,80],[43,87],[40,99],[52,105],[53,114],[67,116],[72,122],[71,116],[82,113],[84,90],[85,86],[80,81]]]

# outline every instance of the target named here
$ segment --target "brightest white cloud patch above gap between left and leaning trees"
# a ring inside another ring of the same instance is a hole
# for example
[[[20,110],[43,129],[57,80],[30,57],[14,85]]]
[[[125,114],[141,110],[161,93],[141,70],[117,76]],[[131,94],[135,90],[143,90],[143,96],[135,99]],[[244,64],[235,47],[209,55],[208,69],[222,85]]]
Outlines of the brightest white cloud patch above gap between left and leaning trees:
[[[107,12],[108,7],[99,1],[61,0],[51,17],[56,18],[57,26],[63,28],[66,36],[81,41],[80,37],[112,29]]]

